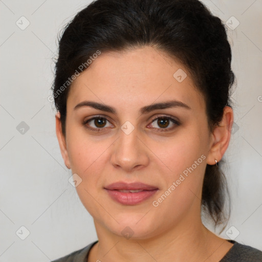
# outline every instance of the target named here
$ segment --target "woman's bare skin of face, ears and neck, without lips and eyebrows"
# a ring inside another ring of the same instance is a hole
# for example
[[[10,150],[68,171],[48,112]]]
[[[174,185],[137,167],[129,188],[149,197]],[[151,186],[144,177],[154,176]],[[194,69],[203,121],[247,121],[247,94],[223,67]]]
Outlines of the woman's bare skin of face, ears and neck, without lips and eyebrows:
[[[173,77],[178,69],[187,74],[182,82]],[[115,107],[116,113],[91,106],[74,110],[84,100]],[[170,100],[181,101],[190,109],[177,106],[140,113],[143,106]],[[163,115],[180,124],[159,125],[155,118],[163,119]],[[94,120],[83,124],[95,116],[105,118],[103,127]],[[134,127],[128,135],[121,129],[126,121]],[[206,164],[222,159],[232,124],[233,111],[226,106],[220,126],[209,132],[202,94],[184,65],[166,53],[144,47],[99,55],[71,86],[65,137],[59,113],[56,115],[64,163],[82,180],[76,190],[93,216],[99,239],[88,261],[222,259],[233,244],[202,224],[201,192]],[[193,171],[170,192],[172,183],[189,167]],[[142,203],[123,205],[104,189],[118,181],[139,181],[159,190]],[[153,201],[168,188],[168,197],[154,206]],[[122,235],[126,227],[134,232],[129,239]]]

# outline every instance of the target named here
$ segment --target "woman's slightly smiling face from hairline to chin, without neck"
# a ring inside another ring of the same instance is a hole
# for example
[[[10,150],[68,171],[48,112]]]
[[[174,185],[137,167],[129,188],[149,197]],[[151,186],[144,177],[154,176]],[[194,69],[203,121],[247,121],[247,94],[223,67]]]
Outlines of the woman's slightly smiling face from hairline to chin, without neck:
[[[184,106],[153,106],[175,100]],[[79,105],[87,101],[101,108]],[[104,232],[147,238],[178,224],[193,226],[206,164],[214,164],[210,138],[204,98],[189,72],[152,47],[101,53],[71,86],[63,158]],[[106,189],[116,182],[157,190]]]

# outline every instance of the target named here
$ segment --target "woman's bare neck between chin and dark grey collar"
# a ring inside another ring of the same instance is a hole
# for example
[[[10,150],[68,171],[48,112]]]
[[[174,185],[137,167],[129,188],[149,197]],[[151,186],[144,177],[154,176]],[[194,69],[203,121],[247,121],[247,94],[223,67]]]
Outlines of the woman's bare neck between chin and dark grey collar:
[[[90,261],[219,261],[232,244],[210,232],[199,219],[187,216],[176,226],[146,239],[126,239],[95,221],[99,242]],[[224,245],[224,246],[223,246]]]

